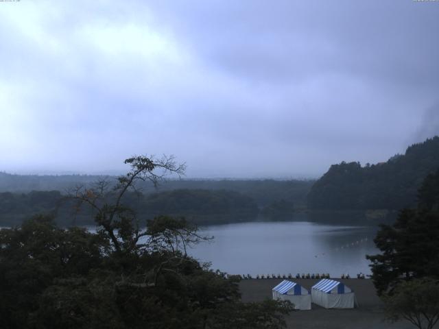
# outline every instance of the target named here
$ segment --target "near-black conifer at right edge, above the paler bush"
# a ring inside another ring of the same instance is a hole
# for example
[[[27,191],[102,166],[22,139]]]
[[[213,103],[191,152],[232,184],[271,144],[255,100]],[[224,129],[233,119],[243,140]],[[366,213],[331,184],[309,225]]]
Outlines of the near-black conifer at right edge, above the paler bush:
[[[439,171],[428,175],[420,188],[416,209],[404,209],[392,226],[382,225],[375,244],[381,254],[372,261],[372,280],[379,295],[392,293],[400,282],[413,278],[439,279]]]

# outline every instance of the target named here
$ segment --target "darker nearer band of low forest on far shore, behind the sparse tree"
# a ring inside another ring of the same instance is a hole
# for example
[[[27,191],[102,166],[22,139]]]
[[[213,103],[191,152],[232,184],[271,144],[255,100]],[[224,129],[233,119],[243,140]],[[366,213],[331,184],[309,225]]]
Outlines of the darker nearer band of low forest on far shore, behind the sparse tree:
[[[111,199],[111,195],[108,196]],[[252,221],[259,208],[251,197],[235,191],[179,189],[161,193],[126,193],[123,205],[146,221],[158,215],[186,217],[191,223]],[[0,227],[16,226],[36,214],[54,215],[61,226],[95,224],[91,209],[76,210],[75,202],[59,191],[0,193]]]

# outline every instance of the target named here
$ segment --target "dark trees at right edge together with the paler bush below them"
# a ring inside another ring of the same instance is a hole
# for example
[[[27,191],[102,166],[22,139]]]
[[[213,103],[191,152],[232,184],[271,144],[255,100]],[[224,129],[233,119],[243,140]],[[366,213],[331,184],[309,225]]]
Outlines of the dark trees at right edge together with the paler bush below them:
[[[372,281],[388,320],[419,329],[439,321],[439,170],[427,175],[416,208],[400,210],[374,239],[380,253],[368,255]]]

